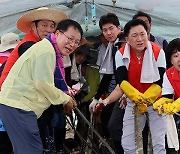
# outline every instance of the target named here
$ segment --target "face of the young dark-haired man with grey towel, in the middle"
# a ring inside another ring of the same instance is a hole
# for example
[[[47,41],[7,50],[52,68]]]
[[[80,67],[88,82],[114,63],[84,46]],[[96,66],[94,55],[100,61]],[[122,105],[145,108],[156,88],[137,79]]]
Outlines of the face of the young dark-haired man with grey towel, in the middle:
[[[114,42],[121,32],[121,27],[116,27],[112,23],[107,23],[102,26],[102,32],[106,40],[109,42]]]

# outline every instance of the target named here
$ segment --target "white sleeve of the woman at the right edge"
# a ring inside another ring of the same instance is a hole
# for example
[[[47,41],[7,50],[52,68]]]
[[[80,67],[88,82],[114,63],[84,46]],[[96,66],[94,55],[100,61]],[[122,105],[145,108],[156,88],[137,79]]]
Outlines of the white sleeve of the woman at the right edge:
[[[167,94],[174,94],[174,89],[171,83],[169,82],[169,79],[167,78],[167,74],[165,72],[163,76],[162,95],[167,95]]]

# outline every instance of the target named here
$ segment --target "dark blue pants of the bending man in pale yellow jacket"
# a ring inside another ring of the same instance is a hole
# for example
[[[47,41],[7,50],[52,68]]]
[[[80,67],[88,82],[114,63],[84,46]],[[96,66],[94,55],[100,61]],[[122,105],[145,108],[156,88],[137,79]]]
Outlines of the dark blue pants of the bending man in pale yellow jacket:
[[[43,153],[34,112],[0,104],[0,117],[12,142],[14,154]]]

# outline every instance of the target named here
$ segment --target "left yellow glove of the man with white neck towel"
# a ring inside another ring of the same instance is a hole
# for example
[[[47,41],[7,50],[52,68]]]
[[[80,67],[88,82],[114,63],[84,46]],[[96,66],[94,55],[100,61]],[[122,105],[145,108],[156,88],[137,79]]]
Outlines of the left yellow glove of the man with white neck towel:
[[[129,82],[123,80],[120,88],[126,94],[126,96],[132,100],[134,103],[144,102],[146,99],[145,95],[134,88]]]

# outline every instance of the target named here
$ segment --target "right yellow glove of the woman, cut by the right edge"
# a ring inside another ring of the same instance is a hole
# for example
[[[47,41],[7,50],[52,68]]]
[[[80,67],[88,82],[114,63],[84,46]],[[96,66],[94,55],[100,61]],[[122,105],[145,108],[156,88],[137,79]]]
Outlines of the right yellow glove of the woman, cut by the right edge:
[[[163,108],[164,108],[164,113],[166,114],[174,114],[175,112],[179,112],[180,111],[180,98],[178,98],[172,103],[164,104]]]

